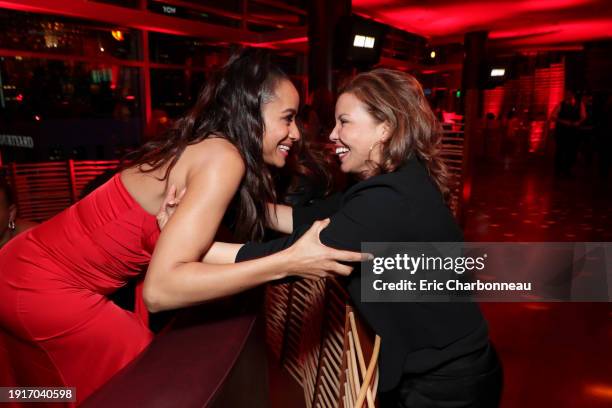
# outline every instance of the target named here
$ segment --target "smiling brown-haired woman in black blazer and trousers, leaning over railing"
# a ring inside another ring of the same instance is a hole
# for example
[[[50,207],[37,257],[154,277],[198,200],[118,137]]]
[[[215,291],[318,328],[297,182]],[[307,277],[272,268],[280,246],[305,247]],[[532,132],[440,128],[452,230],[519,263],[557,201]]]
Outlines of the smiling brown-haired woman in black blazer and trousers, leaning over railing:
[[[362,242],[462,241],[443,199],[448,175],[440,137],[414,77],[386,69],[357,75],[340,92],[330,140],[342,171],[361,181],[308,206],[274,206],[271,226],[287,237],[244,246],[216,243],[207,257],[228,261],[238,251],[239,262],[266,256],[288,248],[315,220],[328,217],[320,240],[338,249],[359,251]],[[382,338],[382,407],[499,405],[502,370],[478,305],[363,303],[360,279],[356,269],[345,283]]]

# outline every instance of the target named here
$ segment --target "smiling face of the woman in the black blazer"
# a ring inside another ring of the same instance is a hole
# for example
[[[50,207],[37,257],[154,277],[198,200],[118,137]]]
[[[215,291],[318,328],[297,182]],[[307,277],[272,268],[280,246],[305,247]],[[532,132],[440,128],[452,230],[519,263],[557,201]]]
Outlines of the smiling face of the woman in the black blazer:
[[[371,169],[368,161],[380,163],[387,134],[386,123],[378,122],[355,95],[340,95],[336,102],[336,127],[329,139],[336,145],[344,173],[365,174]]]

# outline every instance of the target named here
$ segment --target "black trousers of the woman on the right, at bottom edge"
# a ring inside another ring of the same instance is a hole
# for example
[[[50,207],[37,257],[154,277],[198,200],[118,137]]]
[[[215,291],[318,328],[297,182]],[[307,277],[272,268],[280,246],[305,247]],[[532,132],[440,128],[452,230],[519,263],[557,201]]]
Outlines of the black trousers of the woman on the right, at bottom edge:
[[[503,371],[491,344],[424,374],[404,374],[380,408],[497,408]]]

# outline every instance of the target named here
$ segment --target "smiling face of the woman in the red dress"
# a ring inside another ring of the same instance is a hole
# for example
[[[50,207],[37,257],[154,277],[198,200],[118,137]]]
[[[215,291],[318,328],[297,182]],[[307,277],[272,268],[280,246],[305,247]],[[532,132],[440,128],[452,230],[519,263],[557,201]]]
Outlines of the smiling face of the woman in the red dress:
[[[292,144],[300,139],[295,123],[299,104],[300,96],[295,86],[282,79],[276,85],[274,97],[263,105],[263,158],[266,164],[283,167]]]

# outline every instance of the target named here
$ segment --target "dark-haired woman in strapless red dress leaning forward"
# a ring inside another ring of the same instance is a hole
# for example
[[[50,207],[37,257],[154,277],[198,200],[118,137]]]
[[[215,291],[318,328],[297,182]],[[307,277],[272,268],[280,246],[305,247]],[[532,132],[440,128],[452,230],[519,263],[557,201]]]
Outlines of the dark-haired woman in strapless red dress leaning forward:
[[[321,245],[322,224],[281,254],[236,265],[200,261],[232,202],[237,235],[261,237],[265,203],[274,198],[266,165],[282,167],[298,140],[298,104],[287,76],[247,50],[211,78],[163,139],[131,157],[131,167],[7,244],[0,348],[10,359],[1,364],[11,370],[8,385],[76,387],[80,402],[134,359],[152,334],[107,295],[147,264],[143,294],[152,312],[289,275],[350,273],[337,261],[359,254]],[[169,186],[187,192],[160,234],[154,214]]]

